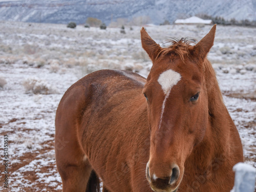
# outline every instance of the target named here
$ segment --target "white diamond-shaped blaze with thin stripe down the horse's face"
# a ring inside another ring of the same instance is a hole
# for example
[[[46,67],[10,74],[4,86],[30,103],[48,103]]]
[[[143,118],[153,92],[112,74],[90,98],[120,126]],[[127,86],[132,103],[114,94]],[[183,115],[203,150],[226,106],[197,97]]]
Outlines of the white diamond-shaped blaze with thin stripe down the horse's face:
[[[162,112],[161,112],[161,118],[160,118],[160,123],[159,123],[159,129],[162,123],[162,118],[163,118],[163,112],[165,108],[165,102],[170,94],[170,90],[172,87],[174,87],[179,80],[181,79],[181,75],[173,71],[171,69],[164,71],[163,73],[160,74],[158,77],[158,82],[162,87],[163,93],[165,94],[164,100],[163,100],[163,105],[162,105]]]

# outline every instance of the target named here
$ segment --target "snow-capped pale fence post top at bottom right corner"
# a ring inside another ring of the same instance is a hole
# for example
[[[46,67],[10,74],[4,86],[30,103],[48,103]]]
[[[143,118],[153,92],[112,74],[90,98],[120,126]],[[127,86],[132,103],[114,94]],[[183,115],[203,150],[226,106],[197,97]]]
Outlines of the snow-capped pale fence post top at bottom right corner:
[[[233,166],[234,187],[230,192],[253,192],[255,187],[256,168],[246,163]]]

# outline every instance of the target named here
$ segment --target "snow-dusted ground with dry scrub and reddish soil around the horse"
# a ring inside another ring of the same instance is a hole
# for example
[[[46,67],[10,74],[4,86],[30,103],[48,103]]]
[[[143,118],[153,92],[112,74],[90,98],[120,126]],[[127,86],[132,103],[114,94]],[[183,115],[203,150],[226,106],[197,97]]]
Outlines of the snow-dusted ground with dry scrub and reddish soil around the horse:
[[[0,155],[4,160],[4,135],[8,135],[9,191],[61,191],[54,155],[57,105],[71,84],[95,70],[126,69],[147,76],[152,63],[141,48],[140,28],[126,27],[122,34],[117,28],[69,29],[57,24],[0,22],[0,26]],[[200,40],[210,28],[146,27],[160,45],[167,36]],[[239,130],[245,161],[254,167],[255,34],[255,28],[217,26],[208,55]]]

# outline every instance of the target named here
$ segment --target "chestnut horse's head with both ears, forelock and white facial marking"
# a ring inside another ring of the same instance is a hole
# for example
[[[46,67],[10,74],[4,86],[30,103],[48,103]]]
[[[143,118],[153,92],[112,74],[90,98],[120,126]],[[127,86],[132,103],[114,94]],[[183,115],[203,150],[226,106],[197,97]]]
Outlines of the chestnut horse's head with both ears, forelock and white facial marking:
[[[146,178],[155,191],[176,191],[184,163],[205,136],[208,122],[206,55],[216,26],[197,45],[185,39],[161,48],[141,29],[142,47],[153,61],[143,94],[151,129]]]

